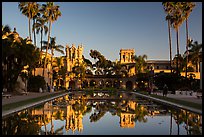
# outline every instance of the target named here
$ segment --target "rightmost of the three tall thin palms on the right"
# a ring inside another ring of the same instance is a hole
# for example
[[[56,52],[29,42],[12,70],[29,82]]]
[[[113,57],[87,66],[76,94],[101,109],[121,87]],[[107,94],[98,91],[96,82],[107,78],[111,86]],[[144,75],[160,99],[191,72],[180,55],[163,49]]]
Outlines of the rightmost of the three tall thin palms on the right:
[[[183,2],[183,13],[186,19],[186,51],[188,51],[188,18],[193,8],[195,7],[194,2]],[[188,68],[188,52],[186,56],[186,77],[187,77],[187,68]]]

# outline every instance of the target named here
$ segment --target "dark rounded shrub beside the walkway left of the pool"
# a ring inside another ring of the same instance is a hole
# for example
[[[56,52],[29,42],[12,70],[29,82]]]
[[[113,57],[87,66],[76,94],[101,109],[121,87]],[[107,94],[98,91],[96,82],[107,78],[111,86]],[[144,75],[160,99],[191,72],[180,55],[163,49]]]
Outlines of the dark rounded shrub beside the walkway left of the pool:
[[[31,76],[28,79],[28,91],[39,92],[39,88],[44,89],[45,87],[46,87],[45,79],[40,75]]]

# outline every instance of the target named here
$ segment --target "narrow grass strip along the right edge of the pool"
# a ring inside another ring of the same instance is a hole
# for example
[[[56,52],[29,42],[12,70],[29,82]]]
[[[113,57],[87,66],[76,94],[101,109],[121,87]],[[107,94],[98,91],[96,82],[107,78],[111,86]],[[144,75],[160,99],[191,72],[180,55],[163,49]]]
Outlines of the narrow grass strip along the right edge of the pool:
[[[139,91],[139,93],[144,94],[144,95],[149,95],[147,92],[144,92],[144,91]],[[159,95],[155,95],[155,94],[151,94],[150,96],[154,97],[154,98],[166,100],[166,101],[169,101],[169,102],[172,102],[172,103],[176,103],[176,104],[184,105],[184,106],[187,106],[187,107],[192,107],[192,108],[195,108],[195,109],[202,110],[202,104],[189,102],[189,101],[184,101],[184,100],[178,100],[178,99],[169,98],[169,97],[163,97],[163,96],[159,96]]]

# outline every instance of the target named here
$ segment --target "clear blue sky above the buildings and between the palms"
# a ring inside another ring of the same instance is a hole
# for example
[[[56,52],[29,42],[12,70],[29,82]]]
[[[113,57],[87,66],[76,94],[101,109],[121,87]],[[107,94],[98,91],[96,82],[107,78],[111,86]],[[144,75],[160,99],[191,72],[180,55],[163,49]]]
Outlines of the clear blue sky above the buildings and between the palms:
[[[120,49],[135,49],[136,55],[150,59],[169,59],[168,28],[161,2],[55,2],[62,16],[53,23],[51,36],[57,44],[83,44],[85,58],[90,50],[107,59],[119,60]],[[16,27],[21,37],[28,34],[28,19],[17,2],[2,3],[2,24]],[[172,30],[172,52],[176,54],[176,35]],[[202,2],[189,17],[189,36],[202,43]],[[40,35],[37,37],[40,40]],[[47,37],[46,39],[47,40]],[[180,53],[186,45],[185,23],[180,28]],[[40,43],[38,43],[40,47]],[[55,53],[56,56],[61,54]]]

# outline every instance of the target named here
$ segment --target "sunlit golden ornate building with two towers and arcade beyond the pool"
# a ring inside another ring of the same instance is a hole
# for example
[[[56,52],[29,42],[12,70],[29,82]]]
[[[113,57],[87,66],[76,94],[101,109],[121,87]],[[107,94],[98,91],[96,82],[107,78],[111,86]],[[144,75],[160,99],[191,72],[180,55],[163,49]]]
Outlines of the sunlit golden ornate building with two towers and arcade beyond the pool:
[[[65,56],[61,56],[62,61],[61,61],[61,66],[65,68],[66,70],[66,75],[65,77],[59,77],[57,79],[54,79],[53,81],[53,86],[63,86],[66,89],[69,87],[72,87],[73,89],[80,89],[81,88],[81,83],[79,79],[75,79],[75,74],[72,73],[73,67],[80,65],[83,63],[83,51],[84,47],[82,44],[79,44],[76,46],[75,44],[67,44],[65,47]],[[51,55],[48,54],[48,58],[50,58]],[[128,89],[134,89],[136,88],[136,82],[135,82],[135,75],[136,75],[136,67],[135,67],[135,50],[132,49],[120,49],[119,53],[119,63],[123,66],[125,66],[126,70],[128,70],[128,76],[127,77],[122,77],[120,80],[118,78],[102,78],[101,76],[95,76],[93,78],[86,78],[85,81],[88,82],[88,85],[90,85],[91,81],[95,82],[96,87],[97,85],[100,85],[100,82],[105,80],[105,82],[111,81],[112,85],[115,82],[118,83],[118,88],[128,88]],[[57,57],[53,57],[53,62],[57,61]],[[170,61],[169,60],[147,60],[146,61],[147,66],[146,70],[151,70],[153,69],[154,73],[160,73],[160,72],[165,72],[165,73],[170,73]],[[54,67],[53,70],[58,72],[59,67]],[[47,83],[51,82],[52,80],[52,69],[51,65],[48,64],[47,69],[45,70],[45,80]],[[47,73],[48,72],[48,73]],[[42,74],[42,72],[40,72]],[[49,75],[50,74],[50,75]],[[182,74],[181,74],[182,75]],[[184,74],[183,74],[184,75]],[[51,84],[50,84],[51,85]]]

